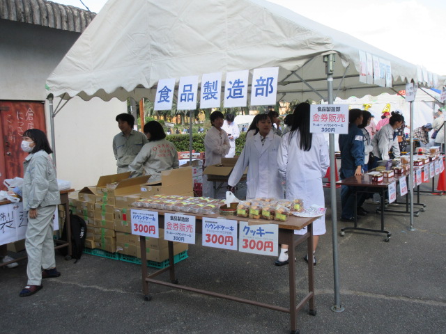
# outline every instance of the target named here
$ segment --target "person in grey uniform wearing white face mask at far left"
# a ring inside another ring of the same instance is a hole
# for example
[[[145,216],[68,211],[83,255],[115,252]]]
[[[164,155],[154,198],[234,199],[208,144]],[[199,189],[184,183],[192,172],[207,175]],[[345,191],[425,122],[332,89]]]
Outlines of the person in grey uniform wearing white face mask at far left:
[[[45,133],[39,129],[26,130],[21,147],[24,152],[29,152],[23,163],[22,189],[15,189],[19,194],[22,191],[23,209],[28,212],[25,240],[28,284],[20,292],[24,297],[42,289],[42,278],[61,276],[56,269],[53,242],[53,216],[61,196]]]

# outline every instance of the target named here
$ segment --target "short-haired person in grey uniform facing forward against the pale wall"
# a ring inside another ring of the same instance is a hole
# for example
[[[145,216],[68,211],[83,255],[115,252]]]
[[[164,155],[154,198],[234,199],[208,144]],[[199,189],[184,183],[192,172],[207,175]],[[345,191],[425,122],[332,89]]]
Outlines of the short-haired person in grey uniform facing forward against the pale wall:
[[[133,129],[134,117],[130,113],[120,113],[116,116],[116,122],[121,133],[113,138],[114,158],[118,166],[117,173],[125,173],[148,140],[142,132]]]

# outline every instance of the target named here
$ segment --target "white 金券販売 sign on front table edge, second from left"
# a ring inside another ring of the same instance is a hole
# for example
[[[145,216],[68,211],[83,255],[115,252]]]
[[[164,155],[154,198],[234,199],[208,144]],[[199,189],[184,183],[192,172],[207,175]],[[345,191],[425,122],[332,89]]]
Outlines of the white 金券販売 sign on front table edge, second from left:
[[[164,239],[195,244],[195,216],[164,214]]]

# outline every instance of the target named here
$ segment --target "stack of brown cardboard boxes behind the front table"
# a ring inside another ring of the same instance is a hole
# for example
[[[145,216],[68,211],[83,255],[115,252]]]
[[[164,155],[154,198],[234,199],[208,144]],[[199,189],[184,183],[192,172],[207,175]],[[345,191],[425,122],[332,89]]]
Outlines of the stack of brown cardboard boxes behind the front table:
[[[86,248],[141,257],[139,235],[132,234],[132,203],[157,194],[193,196],[191,167],[162,172],[161,184],[148,182],[148,175],[131,179],[129,176],[130,173],[102,176],[96,186],[79,191],[78,200],[70,200],[73,213],[87,223]],[[175,254],[184,250],[187,244],[174,244]],[[146,238],[146,256],[155,262],[167,260],[164,230],[160,230],[160,239]]]

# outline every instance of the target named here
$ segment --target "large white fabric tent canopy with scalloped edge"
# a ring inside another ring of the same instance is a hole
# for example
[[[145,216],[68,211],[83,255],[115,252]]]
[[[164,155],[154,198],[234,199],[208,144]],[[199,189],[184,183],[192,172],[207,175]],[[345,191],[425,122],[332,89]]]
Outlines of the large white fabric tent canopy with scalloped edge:
[[[359,82],[359,51],[390,61],[394,90]],[[415,65],[268,1],[110,0],[47,90],[65,99],[138,101],[153,97],[160,79],[279,66],[278,99],[327,100],[327,54],[338,55],[334,97],[395,93],[406,80],[420,81]]]

